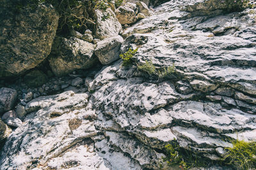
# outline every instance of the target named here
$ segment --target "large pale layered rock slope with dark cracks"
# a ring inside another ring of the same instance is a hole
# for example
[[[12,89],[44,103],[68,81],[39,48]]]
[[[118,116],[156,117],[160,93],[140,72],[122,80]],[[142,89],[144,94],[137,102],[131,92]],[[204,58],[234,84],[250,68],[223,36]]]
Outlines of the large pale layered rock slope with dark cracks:
[[[125,29],[124,42],[110,38],[121,52],[138,48],[137,64],[174,64],[163,79],[117,60],[60,94],[24,96],[27,115],[1,150],[0,169],[160,169],[168,143],[209,169],[230,169],[219,164],[230,139],[256,140],[256,10],[229,8],[172,0]]]

